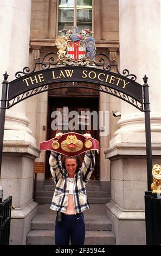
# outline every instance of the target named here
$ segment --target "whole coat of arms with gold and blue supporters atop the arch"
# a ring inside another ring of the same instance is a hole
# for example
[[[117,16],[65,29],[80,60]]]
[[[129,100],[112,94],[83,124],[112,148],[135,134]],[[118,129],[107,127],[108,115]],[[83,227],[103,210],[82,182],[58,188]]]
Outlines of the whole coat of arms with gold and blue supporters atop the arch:
[[[59,49],[57,52],[60,61],[72,60],[74,62],[82,62],[89,60],[94,62],[95,59],[95,39],[92,31],[78,32],[78,27],[75,27],[75,33],[71,30],[63,29],[60,31],[63,35],[57,36],[55,45]]]

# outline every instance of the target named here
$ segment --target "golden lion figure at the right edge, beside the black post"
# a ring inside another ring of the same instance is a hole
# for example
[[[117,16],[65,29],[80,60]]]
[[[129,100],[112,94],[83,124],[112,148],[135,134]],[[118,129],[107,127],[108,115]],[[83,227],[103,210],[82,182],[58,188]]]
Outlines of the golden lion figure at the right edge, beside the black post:
[[[161,192],[161,166],[155,164],[152,168],[153,183],[151,185],[152,193]]]

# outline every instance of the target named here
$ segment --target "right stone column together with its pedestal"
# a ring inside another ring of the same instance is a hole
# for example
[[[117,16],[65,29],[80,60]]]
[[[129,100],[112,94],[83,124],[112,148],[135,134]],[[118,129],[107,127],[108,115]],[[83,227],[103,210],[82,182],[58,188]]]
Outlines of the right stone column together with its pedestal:
[[[120,0],[120,71],[149,77],[153,164],[161,163],[160,1]],[[111,160],[112,200],[107,215],[118,245],[144,245],[147,191],[144,113],[121,102],[118,130],[106,150]]]

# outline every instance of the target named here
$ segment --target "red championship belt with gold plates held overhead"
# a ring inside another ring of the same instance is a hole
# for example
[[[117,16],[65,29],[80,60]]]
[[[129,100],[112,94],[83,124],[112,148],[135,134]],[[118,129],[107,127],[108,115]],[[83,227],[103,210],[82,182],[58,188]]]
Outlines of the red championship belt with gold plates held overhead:
[[[98,150],[99,142],[96,139],[86,139],[83,135],[68,132],[58,140],[56,137],[40,143],[40,150],[50,150],[66,156],[80,155],[87,150]]]

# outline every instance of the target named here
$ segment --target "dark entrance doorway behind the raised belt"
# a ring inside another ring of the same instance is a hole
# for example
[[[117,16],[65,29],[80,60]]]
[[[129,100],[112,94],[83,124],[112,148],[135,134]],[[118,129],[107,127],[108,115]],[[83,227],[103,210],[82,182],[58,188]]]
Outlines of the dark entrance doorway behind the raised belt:
[[[48,100],[48,125],[47,140],[54,138],[57,132],[91,133],[91,136],[99,141],[99,120],[96,113],[99,110],[99,99],[90,97],[53,97]],[[92,118],[87,113],[95,114]],[[86,113],[86,114],[85,114]],[[91,118],[91,119],[90,119]],[[72,130],[71,130],[72,129]],[[79,155],[82,163],[85,153]],[[50,178],[49,166],[50,151],[46,151],[46,179]],[[62,161],[63,161],[62,156]],[[91,179],[99,179],[99,155],[96,154],[96,164]]]

